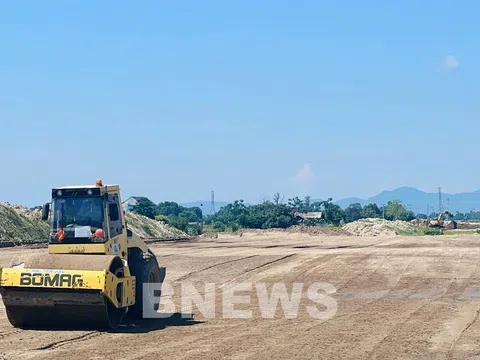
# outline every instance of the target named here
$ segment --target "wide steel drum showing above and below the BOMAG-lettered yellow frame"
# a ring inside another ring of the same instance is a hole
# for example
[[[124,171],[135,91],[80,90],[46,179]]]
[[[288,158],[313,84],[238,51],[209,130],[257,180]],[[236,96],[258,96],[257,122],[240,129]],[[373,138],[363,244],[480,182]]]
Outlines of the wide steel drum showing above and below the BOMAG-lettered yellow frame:
[[[14,258],[11,267],[118,274],[123,263],[111,255],[41,254]],[[22,329],[115,329],[126,313],[98,290],[4,287],[0,293],[8,320]]]

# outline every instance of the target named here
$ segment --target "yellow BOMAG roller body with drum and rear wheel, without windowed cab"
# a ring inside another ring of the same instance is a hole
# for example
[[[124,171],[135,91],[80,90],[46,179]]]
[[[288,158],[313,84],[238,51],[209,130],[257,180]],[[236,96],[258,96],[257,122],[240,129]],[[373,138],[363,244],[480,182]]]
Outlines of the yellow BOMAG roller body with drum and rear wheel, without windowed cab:
[[[144,300],[143,286],[162,283],[165,268],[145,242],[127,230],[124,216],[117,214],[115,223],[108,222],[112,199],[120,206],[118,185],[97,183],[94,191],[105,199],[104,243],[50,243],[48,254],[12,259],[9,267],[0,268],[0,294],[13,326],[114,329],[126,315],[142,319],[145,305],[158,309],[159,296]]]

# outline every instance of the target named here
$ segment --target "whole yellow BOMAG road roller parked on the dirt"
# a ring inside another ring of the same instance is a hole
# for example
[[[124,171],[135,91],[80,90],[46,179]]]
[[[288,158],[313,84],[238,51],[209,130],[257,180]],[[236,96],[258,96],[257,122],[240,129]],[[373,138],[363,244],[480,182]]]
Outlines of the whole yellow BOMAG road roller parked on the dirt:
[[[165,267],[127,229],[122,210],[118,185],[97,180],[52,189],[42,210],[44,221],[51,218],[48,254],[0,268],[0,294],[14,327],[115,329],[126,316],[158,310]],[[157,295],[145,294],[148,284]]]

